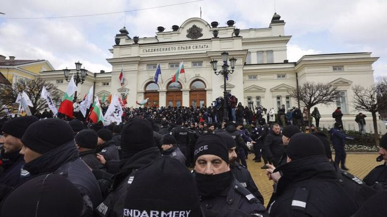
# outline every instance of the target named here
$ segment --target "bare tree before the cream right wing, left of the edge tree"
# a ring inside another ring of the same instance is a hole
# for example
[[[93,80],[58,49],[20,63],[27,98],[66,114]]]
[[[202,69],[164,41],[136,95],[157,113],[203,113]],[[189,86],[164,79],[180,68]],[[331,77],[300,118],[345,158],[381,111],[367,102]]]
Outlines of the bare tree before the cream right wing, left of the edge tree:
[[[313,82],[306,82],[302,86],[292,89],[289,94],[291,97],[301,101],[304,107],[307,107],[308,120],[310,120],[310,108],[318,104],[329,105],[335,102],[340,95],[336,91],[336,86],[332,86],[329,83]]]

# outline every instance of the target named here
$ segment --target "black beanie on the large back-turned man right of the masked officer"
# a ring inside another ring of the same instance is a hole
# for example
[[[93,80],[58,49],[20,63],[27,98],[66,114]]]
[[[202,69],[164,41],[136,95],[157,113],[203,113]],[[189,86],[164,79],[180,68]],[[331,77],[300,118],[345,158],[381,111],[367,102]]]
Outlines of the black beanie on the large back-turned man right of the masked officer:
[[[292,160],[310,156],[326,155],[325,148],[319,138],[312,134],[297,133],[289,141],[286,154]]]

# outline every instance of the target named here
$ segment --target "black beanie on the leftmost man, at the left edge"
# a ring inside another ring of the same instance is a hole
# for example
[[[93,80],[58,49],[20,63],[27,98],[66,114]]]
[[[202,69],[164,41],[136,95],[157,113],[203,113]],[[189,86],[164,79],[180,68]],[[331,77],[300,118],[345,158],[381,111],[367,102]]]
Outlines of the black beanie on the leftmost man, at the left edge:
[[[37,121],[38,118],[35,116],[17,117],[5,122],[1,131],[21,139],[27,127]]]

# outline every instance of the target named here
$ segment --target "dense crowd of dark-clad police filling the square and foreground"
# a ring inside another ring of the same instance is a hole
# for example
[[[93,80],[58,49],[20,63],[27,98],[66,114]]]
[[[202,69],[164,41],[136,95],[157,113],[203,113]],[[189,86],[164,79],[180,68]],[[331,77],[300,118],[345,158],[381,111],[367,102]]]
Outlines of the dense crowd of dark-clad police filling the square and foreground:
[[[250,132],[199,114],[140,108],[126,110],[119,125],[35,116],[3,122],[0,216],[386,215],[387,134],[380,139],[384,164],[361,180],[346,171],[345,156],[332,160],[317,130],[261,118]],[[267,207],[247,169],[250,151],[273,181]]]

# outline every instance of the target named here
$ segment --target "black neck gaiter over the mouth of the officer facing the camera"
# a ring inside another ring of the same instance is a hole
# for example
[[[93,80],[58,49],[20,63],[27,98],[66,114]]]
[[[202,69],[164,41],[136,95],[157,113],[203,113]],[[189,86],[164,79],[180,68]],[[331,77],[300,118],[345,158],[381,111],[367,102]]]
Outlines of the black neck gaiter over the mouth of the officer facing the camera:
[[[228,186],[230,186],[231,181],[233,180],[233,175],[231,171],[215,175],[196,173],[195,180],[197,183],[197,188],[199,189],[199,195],[215,197]]]

